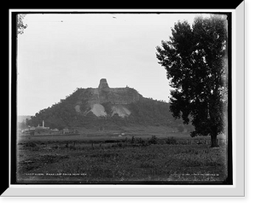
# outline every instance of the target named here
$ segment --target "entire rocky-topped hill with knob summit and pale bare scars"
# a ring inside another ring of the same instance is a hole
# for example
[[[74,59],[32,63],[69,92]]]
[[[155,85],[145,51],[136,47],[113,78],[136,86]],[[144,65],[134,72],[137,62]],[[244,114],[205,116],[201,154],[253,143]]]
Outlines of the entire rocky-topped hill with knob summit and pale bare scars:
[[[101,79],[98,88],[79,88],[66,99],[41,110],[28,124],[38,126],[42,120],[52,129],[114,130],[130,125],[163,125],[183,130],[182,121],[172,117],[168,103],[145,98],[129,87],[109,88],[105,78]],[[191,129],[191,126],[185,128]]]

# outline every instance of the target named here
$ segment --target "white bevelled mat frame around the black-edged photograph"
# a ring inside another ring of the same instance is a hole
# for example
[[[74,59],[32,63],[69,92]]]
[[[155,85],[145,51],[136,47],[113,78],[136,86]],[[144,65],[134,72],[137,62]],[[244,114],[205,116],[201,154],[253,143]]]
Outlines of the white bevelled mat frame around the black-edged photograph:
[[[16,9],[9,9],[9,34],[11,34],[11,13],[12,12],[26,12],[26,11],[31,11],[27,9],[23,10],[16,10]],[[35,12],[37,11],[42,11],[46,12],[48,9],[44,10],[39,10],[35,9],[33,10]],[[58,11],[63,11],[61,9],[56,9],[56,10],[50,10],[51,12],[58,12]],[[65,9],[65,11],[73,11],[73,9]],[[76,10],[77,11],[77,10]],[[88,10],[88,9],[79,9],[78,11],[81,12],[117,12],[117,10],[98,10],[98,9],[93,9],[93,10]],[[149,9],[149,10],[129,10],[128,12],[177,12],[177,10],[170,10],[170,9],[162,9],[162,10],[156,10],[156,9]],[[178,12],[191,12],[191,10],[183,9],[183,10],[178,10]],[[213,12],[216,10],[214,9],[206,9],[203,10],[203,12]],[[244,11],[245,11],[245,2],[243,1],[237,8],[236,8],[236,14],[233,9],[225,9],[223,12],[231,12],[232,13],[232,39],[233,39],[233,45],[232,45],[232,67],[236,70],[238,68],[244,68],[244,60],[241,61],[241,63],[237,63],[236,58],[237,57],[243,57],[244,56],[244,50],[237,50],[239,47],[244,46],[244,41],[241,41],[241,39],[238,38],[243,38],[244,40],[244,30],[241,30],[241,24],[244,24]],[[119,12],[127,12],[126,9],[121,9]],[[193,12],[202,12],[200,9],[195,9]],[[236,22],[238,18],[236,16],[238,14],[241,14],[241,19],[239,24]],[[238,29],[239,28],[239,29]],[[236,32],[235,32],[236,30]],[[236,36],[236,33],[239,32],[239,35]],[[234,46],[236,40],[236,46]],[[240,49],[240,48],[239,48]],[[11,57],[11,37],[9,37],[9,57]],[[9,63],[10,63],[10,70],[9,70],[9,80],[11,81],[11,59],[9,58]],[[239,113],[240,109],[237,108],[238,105],[235,104],[238,99],[238,97],[241,99],[241,93],[244,93],[244,74],[243,72],[234,72],[235,70],[232,69],[232,117],[233,117],[233,130],[232,130],[232,136],[233,136],[233,176],[234,176],[234,185],[15,185],[15,184],[10,184],[10,177],[9,177],[9,188],[3,192],[1,197],[22,197],[22,196],[31,196],[31,197],[38,197],[38,196],[49,196],[49,197],[55,197],[55,196],[169,196],[169,197],[195,197],[195,196],[201,196],[201,197],[207,197],[207,196],[215,196],[215,197],[224,197],[224,196],[244,196],[244,181],[238,182],[236,176],[243,176],[242,174],[237,174],[236,171],[239,172],[240,170],[237,170],[237,161],[236,161],[236,153],[237,153],[237,148],[241,148],[240,145],[236,146],[236,137],[242,136],[241,138],[244,138],[244,129],[241,130],[241,132],[238,132],[236,130],[236,126],[243,125],[244,121],[243,116],[244,114]],[[241,70],[242,71],[242,70]],[[236,78],[240,79],[239,82],[236,80]],[[243,78],[243,79],[242,79]],[[242,82],[241,82],[242,81]],[[9,82],[10,83],[10,82]],[[242,84],[241,84],[242,83]],[[239,96],[236,96],[236,86],[239,84]],[[236,85],[236,86],[235,86]],[[9,85],[9,101],[11,101],[10,98],[10,85]],[[242,107],[243,105],[239,104],[239,107]],[[11,103],[11,102],[10,102]],[[244,106],[243,106],[244,107]],[[243,108],[244,109],[244,108]],[[236,111],[236,113],[235,113]],[[10,115],[10,112],[9,112]],[[239,115],[239,119],[237,119],[237,116]],[[242,117],[242,121],[240,120]],[[10,122],[10,121],[9,121]],[[9,123],[10,124],[10,123]],[[11,131],[10,125],[9,125],[9,132]],[[244,143],[243,143],[244,144]],[[242,145],[243,145],[242,144]],[[244,146],[242,146],[244,147]],[[244,150],[242,150],[244,151]],[[10,153],[10,152],[9,152]],[[240,159],[241,161],[242,159]],[[9,161],[10,162],[10,161]],[[244,162],[244,157],[243,161]],[[241,167],[241,166],[240,166]],[[10,170],[10,167],[9,167]],[[238,191],[238,188],[240,190]],[[76,189],[76,190],[75,190]],[[212,193],[212,191],[214,193]]]

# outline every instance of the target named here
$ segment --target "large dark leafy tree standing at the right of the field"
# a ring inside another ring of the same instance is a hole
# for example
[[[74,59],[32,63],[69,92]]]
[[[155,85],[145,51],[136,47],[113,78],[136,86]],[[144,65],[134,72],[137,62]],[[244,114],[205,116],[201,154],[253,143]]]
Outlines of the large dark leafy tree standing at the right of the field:
[[[224,132],[227,106],[227,21],[224,16],[197,17],[192,26],[178,21],[172,36],[156,47],[156,56],[170,80],[170,111],[195,130],[191,136]]]

